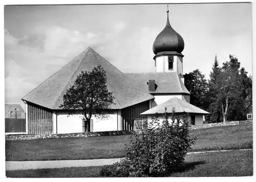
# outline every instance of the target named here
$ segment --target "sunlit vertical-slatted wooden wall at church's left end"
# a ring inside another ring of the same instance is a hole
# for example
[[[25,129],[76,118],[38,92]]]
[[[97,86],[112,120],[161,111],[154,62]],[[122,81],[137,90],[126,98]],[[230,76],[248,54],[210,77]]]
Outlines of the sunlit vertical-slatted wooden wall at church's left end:
[[[53,111],[28,102],[28,134],[52,134]]]

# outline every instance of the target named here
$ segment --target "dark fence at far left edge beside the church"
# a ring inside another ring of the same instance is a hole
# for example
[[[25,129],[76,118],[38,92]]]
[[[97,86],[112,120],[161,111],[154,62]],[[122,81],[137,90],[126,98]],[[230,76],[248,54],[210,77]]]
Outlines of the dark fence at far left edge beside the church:
[[[26,119],[6,118],[5,132],[6,133],[26,132]]]

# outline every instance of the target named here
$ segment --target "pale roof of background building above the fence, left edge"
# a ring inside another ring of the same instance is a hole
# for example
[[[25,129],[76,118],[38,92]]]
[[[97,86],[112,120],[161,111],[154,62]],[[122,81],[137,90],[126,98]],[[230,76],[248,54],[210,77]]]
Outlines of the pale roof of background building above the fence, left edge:
[[[25,119],[25,111],[20,104],[5,104],[5,118],[15,118],[16,113],[17,118]]]

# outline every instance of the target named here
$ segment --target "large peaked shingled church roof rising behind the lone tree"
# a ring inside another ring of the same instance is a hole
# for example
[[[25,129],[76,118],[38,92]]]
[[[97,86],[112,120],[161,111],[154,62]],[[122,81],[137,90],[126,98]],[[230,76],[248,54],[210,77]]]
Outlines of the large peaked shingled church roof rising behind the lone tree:
[[[93,49],[88,48],[33,89],[22,100],[50,109],[61,109],[59,106],[63,103],[63,95],[70,85],[74,84],[81,71],[91,71],[98,65],[106,71],[108,89],[115,97],[112,109],[121,109],[154,98],[135,80],[120,72]]]

